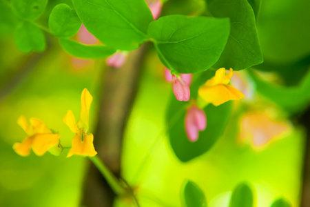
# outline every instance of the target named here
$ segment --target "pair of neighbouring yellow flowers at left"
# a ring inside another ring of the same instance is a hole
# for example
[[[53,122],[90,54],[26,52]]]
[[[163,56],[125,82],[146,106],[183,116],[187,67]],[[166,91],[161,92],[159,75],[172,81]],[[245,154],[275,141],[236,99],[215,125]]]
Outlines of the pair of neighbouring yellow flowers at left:
[[[91,103],[92,95],[90,95],[90,92],[85,88],[81,95],[81,113],[79,121],[76,123],[72,110],[68,110],[67,115],[63,118],[65,124],[75,133],[72,139],[72,147],[67,157],[71,157],[72,155],[92,157],[97,154],[93,144],[94,136],[88,133]],[[17,124],[19,124],[28,135],[21,143],[17,142],[13,145],[14,151],[21,156],[28,156],[31,148],[36,155],[42,156],[57,144],[60,145],[59,134],[52,132],[52,130],[39,119],[31,118],[30,126],[28,126],[25,117],[21,116]]]

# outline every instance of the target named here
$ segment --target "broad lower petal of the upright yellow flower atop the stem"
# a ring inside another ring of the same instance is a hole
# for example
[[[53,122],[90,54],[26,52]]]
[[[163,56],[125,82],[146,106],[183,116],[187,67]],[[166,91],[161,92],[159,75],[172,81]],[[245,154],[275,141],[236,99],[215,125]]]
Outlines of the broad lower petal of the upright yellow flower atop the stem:
[[[90,156],[93,157],[97,154],[94,149],[94,136],[92,134],[85,135],[83,141],[80,136],[76,135],[72,139],[72,148],[70,149],[67,157],[72,155]]]

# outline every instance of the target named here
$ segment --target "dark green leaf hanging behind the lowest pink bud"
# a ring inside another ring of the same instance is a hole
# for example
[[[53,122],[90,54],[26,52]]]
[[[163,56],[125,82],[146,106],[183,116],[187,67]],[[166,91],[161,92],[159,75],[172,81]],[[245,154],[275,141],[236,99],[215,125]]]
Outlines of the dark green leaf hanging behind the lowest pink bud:
[[[191,98],[197,96],[198,87],[205,83],[207,79],[214,75],[214,71],[207,70],[203,72],[197,81],[192,83]],[[184,119],[186,108],[189,102],[176,100],[172,95],[171,101],[167,109],[167,125],[169,127],[169,141],[180,161],[190,161],[211,149],[216,143],[220,135],[223,134],[229,117],[231,115],[231,101],[223,103],[220,106],[209,104],[203,110],[207,116],[207,128],[199,132],[199,138],[195,142],[189,141],[184,127]]]

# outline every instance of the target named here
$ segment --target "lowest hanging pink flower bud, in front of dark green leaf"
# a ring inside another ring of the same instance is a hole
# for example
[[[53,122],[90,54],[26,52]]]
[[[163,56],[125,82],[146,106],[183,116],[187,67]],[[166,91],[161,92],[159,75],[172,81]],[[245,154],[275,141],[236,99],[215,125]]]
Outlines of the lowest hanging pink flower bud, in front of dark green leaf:
[[[198,132],[207,127],[207,117],[205,112],[197,106],[191,106],[187,109],[185,115],[185,131],[189,141],[197,141]]]

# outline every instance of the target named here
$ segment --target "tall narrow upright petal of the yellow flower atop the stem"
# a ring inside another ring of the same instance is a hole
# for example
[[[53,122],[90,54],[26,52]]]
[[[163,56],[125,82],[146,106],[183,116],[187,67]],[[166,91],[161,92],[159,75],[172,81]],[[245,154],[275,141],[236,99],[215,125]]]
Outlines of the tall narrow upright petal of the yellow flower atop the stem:
[[[90,104],[92,103],[92,95],[84,88],[81,95],[81,114],[78,121],[79,128],[83,128],[85,131],[89,128],[89,115],[90,115]]]

